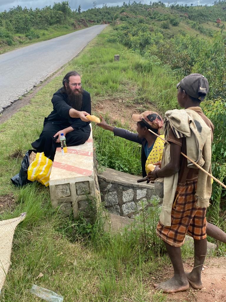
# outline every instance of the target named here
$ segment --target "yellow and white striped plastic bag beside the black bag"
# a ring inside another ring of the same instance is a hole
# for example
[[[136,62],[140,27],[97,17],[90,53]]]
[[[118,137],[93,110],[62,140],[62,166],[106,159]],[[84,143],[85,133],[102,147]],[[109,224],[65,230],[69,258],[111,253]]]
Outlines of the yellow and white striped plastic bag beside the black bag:
[[[48,187],[49,175],[52,169],[52,160],[47,158],[44,153],[37,153],[35,160],[30,164],[27,170],[27,179],[30,181],[41,182]]]

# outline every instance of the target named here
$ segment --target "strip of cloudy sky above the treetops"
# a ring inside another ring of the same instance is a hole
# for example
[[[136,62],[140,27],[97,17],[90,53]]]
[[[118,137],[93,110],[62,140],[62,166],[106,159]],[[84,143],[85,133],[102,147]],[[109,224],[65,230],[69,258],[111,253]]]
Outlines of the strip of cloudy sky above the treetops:
[[[125,0],[126,3],[128,3],[129,0]],[[158,2],[158,0],[152,0]],[[22,8],[24,8],[25,6],[27,8],[33,8],[35,9],[36,7],[38,8],[43,8],[46,5],[53,5],[54,2],[62,2],[61,0],[0,0],[0,11],[4,11],[7,10],[9,8],[13,8],[14,6],[16,7],[17,5],[22,6]],[[119,1],[117,2],[117,0],[96,0],[97,3],[97,7],[102,7],[103,3],[107,3],[108,6],[115,6],[115,5],[122,5],[123,1]],[[130,3],[132,3],[133,0],[130,0]],[[139,2],[139,0],[137,0],[136,2]],[[149,4],[150,0],[142,0],[141,3],[146,3]],[[162,0],[162,2],[164,3],[168,3],[168,0]],[[170,0],[170,3],[174,3],[174,0]],[[185,4],[187,3],[188,5],[190,5],[191,3],[193,3],[193,5],[198,5],[198,4],[202,4],[202,5],[212,5],[213,0],[185,0],[185,1],[181,1],[178,0],[177,3],[178,4]],[[88,8],[92,8],[93,7],[93,0],[69,0],[69,4],[72,10],[78,8],[79,5],[81,5],[81,9],[82,10],[86,10]]]

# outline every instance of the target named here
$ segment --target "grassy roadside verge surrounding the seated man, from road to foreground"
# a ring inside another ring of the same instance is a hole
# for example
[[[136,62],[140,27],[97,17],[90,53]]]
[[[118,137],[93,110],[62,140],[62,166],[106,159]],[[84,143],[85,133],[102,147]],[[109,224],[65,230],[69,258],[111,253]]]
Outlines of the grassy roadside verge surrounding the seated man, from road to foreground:
[[[149,86],[153,99],[155,95],[155,100],[160,100],[157,92],[162,87],[161,79],[170,101],[175,92],[168,71],[130,54],[119,44],[105,42],[110,30],[100,34],[73,59],[64,74],[71,69],[80,71],[84,87],[96,103],[106,97],[117,98],[122,94],[126,97],[131,87],[136,87],[134,103],[146,100],[146,91],[142,89]],[[113,61],[115,53],[121,54],[119,63]],[[162,243],[155,235],[156,208],[144,212],[126,232],[111,235],[99,223],[90,226],[83,220],[61,217],[57,210],[51,209],[48,188],[34,183],[17,189],[10,182],[10,177],[20,169],[21,156],[39,136],[44,117],[52,110],[52,94],[61,86],[62,78],[63,74],[56,77],[29,105],[0,125],[0,195],[12,193],[15,198],[14,212],[6,212],[1,219],[27,212],[15,232],[11,268],[0,299],[40,301],[30,294],[32,284],[37,284],[63,295],[68,302],[167,301],[165,295],[152,290],[152,277],[168,263]],[[146,101],[151,106],[151,99]],[[39,273],[43,276],[39,277]]]

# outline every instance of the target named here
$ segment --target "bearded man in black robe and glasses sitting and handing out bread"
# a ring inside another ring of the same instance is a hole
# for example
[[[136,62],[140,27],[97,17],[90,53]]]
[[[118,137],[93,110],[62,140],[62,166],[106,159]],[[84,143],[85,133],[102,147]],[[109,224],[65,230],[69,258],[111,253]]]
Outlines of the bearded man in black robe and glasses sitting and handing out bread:
[[[63,87],[52,97],[53,111],[45,117],[39,139],[31,144],[51,160],[60,146],[61,133],[66,137],[67,146],[84,144],[89,138],[90,121],[86,115],[91,114],[91,99],[81,86],[81,77],[76,71],[64,76]]]

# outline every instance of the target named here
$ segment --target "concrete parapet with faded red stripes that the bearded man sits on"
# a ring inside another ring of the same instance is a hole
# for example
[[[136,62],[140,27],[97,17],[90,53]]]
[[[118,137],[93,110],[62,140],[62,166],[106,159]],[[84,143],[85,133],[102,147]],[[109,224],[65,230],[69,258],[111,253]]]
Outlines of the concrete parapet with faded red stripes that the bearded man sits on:
[[[79,210],[89,215],[86,205],[91,198],[96,203],[93,208],[98,208],[100,192],[94,161],[92,127],[90,137],[84,144],[67,147],[64,155],[61,154],[61,148],[57,148],[49,178],[53,207],[62,205],[62,198],[67,198],[68,205],[61,207],[65,208],[66,215],[70,204],[75,218]]]

